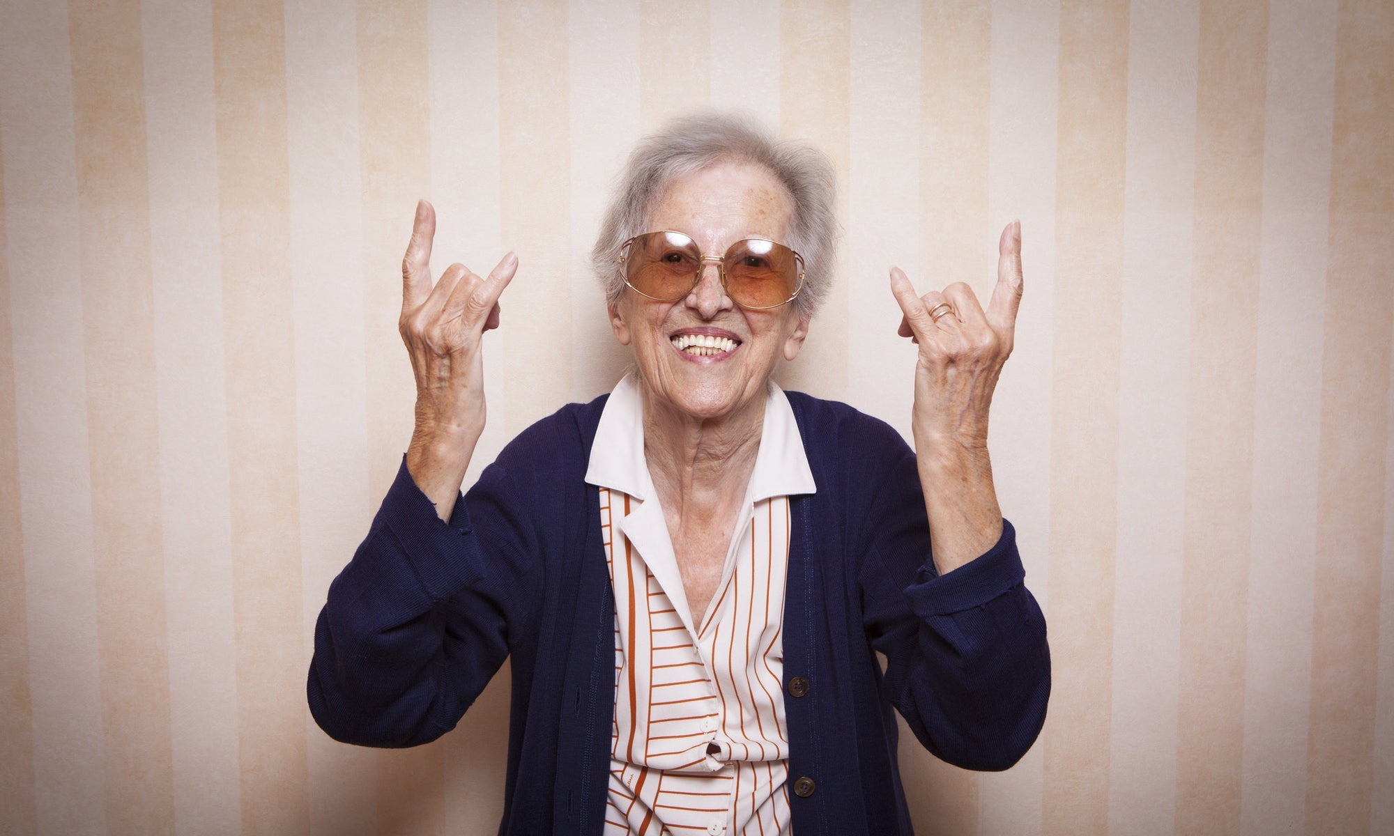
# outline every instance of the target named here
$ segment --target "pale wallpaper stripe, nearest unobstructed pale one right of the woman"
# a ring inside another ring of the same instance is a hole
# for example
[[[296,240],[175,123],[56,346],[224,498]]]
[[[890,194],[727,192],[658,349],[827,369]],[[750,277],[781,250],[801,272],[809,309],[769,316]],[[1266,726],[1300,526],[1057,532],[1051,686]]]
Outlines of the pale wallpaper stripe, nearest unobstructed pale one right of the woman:
[[[1108,829],[1171,833],[1199,1],[1129,10]]]

